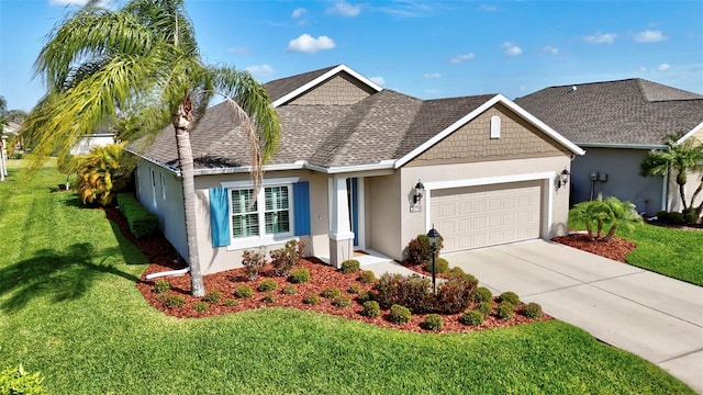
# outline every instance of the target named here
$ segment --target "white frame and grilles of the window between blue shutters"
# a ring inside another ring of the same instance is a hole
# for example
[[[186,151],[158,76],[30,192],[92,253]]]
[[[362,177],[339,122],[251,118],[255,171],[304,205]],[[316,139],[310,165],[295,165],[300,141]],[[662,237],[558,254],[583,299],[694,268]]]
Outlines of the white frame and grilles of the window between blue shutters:
[[[238,237],[238,238],[234,237],[234,229],[232,227],[232,216],[233,216],[232,191],[250,190],[250,189],[254,189],[254,185],[249,180],[230,181],[230,182],[220,183],[223,188],[227,189],[227,208],[228,208],[228,217],[230,217],[228,219],[230,221],[230,246],[227,246],[227,250],[283,244],[288,240],[298,238],[295,237],[295,223],[294,223],[294,218],[295,218],[294,198],[293,198],[294,182],[298,182],[297,177],[264,180],[264,182],[261,183],[261,188],[259,189],[259,193],[256,196],[259,235],[250,236],[250,237]],[[266,234],[266,189],[271,187],[284,187],[288,189],[289,232],[267,235]]]

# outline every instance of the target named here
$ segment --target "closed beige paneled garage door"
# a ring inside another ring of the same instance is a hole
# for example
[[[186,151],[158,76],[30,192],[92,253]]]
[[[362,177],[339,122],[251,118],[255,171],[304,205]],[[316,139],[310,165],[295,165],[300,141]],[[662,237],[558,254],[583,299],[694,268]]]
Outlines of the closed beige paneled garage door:
[[[542,182],[432,191],[432,224],[444,251],[458,251],[539,237]]]

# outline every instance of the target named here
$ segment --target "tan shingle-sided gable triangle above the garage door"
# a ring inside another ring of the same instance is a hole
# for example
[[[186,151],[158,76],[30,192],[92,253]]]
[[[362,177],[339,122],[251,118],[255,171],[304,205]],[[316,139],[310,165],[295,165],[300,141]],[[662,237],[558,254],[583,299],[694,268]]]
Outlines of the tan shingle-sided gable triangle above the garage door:
[[[499,138],[491,138],[491,117],[501,120]],[[566,148],[502,104],[487,110],[405,167],[451,162],[562,156]]]

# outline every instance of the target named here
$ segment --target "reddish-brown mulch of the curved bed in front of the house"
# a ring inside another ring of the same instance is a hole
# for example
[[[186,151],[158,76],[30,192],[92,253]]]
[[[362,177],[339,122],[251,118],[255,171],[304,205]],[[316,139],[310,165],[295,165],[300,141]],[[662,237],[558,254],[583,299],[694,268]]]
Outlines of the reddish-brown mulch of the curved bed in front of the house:
[[[232,294],[234,289],[241,284],[248,284],[255,291],[253,297],[238,298],[238,304],[236,306],[224,306],[221,301],[217,304],[210,304],[208,311],[204,313],[198,313],[194,309],[194,304],[199,302],[200,298],[190,295],[189,274],[181,276],[161,278],[168,280],[168,282],[171,284],[171,293],[182,295],[186,298],[186,303],[182,306],[174,308],[165,307],[163,302],[158,300],[159,294],[153,291],[154,283],[158,279],[145,280],[146,274],[172,269],[180,269],[186,267],[186,263],[182,261],[182,259],[178,258],[178,253],[176,252],[174,247],[164,237],[155,237],[146,240],[134,239],[132,234],[129,232],[129,227],[126,225],[126,222],[124,221],[124,217],[118,210],[107,208],[105,216],[108,217],[108,219],[115,222],[120,226],[125,237],[134,242],[148,258],[150,263],[142,275],[140,282],[137,282],[136,286],[144,295],[144,298],[152,306],[154,306],[154,308],[157,308],[167,315],[182,318],[208,317],[237,313],[250,308],[278,306],[342,316],[347,319],[356,319],[381,327],[389,327],[414,332],[429,332],[429,330],[423,329],[421,325],[427,316],[426,314],[413,314],[412,320],[402,325],[389,323],[386,319],[388,311],[381,311],[381,316],[377,318],[368,318],[361,316],[360,313],[362,306],[356,301],[356,295],[348,293],[347,290],[352,284],[357,284],[360,290],[368,291],[371,289],[372,284],[364,284],[357,281],[358,273],[344,274],[335,270],[333,267],[323,263],[316,258],[301,259],[297,268],[309,269],[311,273],[311,281],[304,284],[294,284],[298,287],[298,292],[292,295],[286,295],[281,293],[281,290],[284,286],[291,284],[287,281],[286,278],[274,275],[272,268],[270,267],[265,267],[263,273],[255,281],[248,281],[246,279],[246,276],[244,275],[244,269],[227,270],[215,274],[204,275],[203,282],[205,285],[205,290],[221,291],[222,301],[224,301],[225,298],[233,298],[234,296]],[[275,302],[272,303],[263,301],[264,296],[267,295],[267,292],[256,291],[257,285],[264,279],[274,279],[278,284],[277,289],[271,292],[271,294],[275,296]],[[302,302],[306,295],[320,295],[324,289],[330,286],[339,287],[339,290],[342,290],[342,294],[352,300],[352,305],[349,307],[342,308],[335,307],[332,305],[331,300],[326,300],[323,297],[320,297],[320,302],[316,305],[306,305]],[[495,301],[493,301],[493,305],[495,307]],[[470,327],[459,323],[460,315],[461,314],[444,315],[444,328],[437,332],[467,332],[491,328],[511,327],[526,323],[551,319],[551,317],[546,314],[544,314],[540,318],[532,319],[516,313],[514,317],[509,320],[502,320],[494,316],[487,316],[486,321],[482,325],[478,327]]]

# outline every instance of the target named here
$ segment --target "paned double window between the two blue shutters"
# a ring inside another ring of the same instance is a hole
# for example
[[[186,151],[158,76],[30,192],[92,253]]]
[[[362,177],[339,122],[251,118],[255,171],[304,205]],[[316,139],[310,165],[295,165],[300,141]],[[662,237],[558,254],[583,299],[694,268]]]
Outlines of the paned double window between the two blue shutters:
[[[289,235],[290,204],[290,185],[265,187],[257,196],[250,188],[231,190],[232,237]]]

